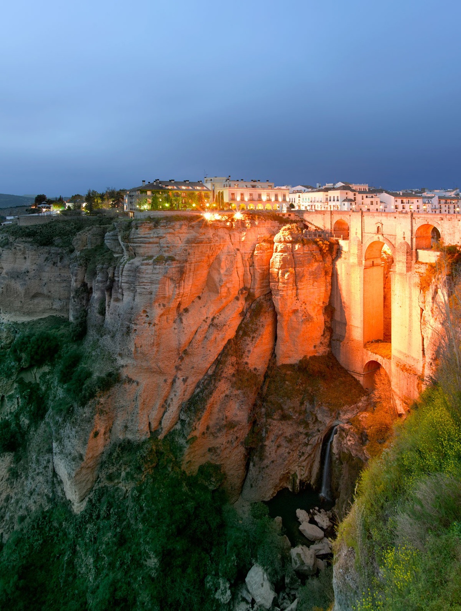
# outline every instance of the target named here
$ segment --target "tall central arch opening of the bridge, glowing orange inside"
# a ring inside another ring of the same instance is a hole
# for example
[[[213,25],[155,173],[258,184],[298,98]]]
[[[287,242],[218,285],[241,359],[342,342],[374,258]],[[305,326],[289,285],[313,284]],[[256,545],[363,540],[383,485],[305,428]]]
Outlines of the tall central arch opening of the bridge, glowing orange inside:
[[[391,266],[394,258],[382,241],[369,244],[363,268],[363,344],[391,343]],[[390,349],[390,346],[389,346]]]

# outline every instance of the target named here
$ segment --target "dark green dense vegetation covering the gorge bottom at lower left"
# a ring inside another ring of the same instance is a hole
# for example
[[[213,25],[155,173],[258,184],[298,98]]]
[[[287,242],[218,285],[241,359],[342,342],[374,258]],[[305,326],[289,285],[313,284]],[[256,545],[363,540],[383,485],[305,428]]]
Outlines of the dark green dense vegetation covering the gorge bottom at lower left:
[[[105,472],[82,513],[57,505],[13,533],[0,555],[2,608],[219,609],[219,577],[233,582],[253,560],[283,577],[266,508],[239,518],[218,469],[186,475],[170,442],[150,440],[117,447]]]

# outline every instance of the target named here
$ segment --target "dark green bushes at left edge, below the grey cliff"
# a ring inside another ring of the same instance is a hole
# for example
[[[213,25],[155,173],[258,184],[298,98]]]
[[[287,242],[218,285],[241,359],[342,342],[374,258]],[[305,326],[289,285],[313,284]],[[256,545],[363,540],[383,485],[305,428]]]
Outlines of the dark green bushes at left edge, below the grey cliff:
[[[0,329],[0,452],[15,452],[49,417],[70,415],[118,380],[113,360],[98,342],[83,345],[85,319],[68,323],[49,316]]]

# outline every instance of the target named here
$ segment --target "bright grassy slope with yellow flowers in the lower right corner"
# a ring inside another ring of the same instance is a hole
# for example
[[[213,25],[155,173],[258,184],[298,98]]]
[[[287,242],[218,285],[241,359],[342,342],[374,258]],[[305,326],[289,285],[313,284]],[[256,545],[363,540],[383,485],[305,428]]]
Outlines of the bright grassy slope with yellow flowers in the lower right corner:
[[[339,529],[363,594],[356,609],[461,609],[461,402],[440,387],[363,473]]]

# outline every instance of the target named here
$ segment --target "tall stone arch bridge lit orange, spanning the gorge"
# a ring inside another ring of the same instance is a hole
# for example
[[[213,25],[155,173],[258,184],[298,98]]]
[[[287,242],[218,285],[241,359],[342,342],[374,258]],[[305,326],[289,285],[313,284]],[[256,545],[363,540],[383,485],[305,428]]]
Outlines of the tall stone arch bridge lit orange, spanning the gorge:
[[[419,284],[437,243],[461,243],[461,215],[297,211],[339,240],[332,279],[332,351],[367,389],[383,367],[403,411],[423,388],[426,350]]]

